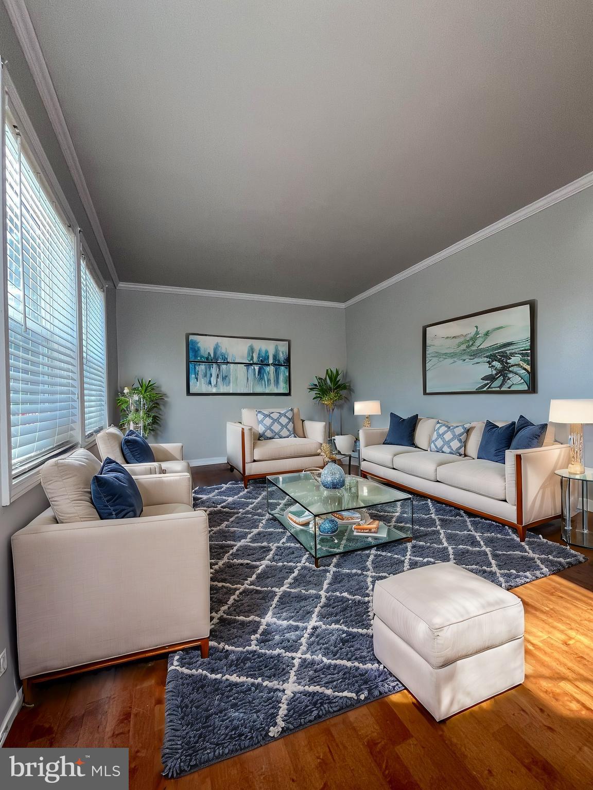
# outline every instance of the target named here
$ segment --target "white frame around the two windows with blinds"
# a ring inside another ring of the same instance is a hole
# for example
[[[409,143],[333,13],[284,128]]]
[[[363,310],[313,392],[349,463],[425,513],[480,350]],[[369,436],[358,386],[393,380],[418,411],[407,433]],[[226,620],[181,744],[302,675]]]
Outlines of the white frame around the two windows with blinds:
[[[104,322],[105,322],[105,411],[106,418],[109,419],[108,402],[108,342],[107,342],[107,294],[108,283],[101,276],[100,271],[90,254],[89,247],[82,237],[81,228],[76,221],[76,217],[66,200],[62,187],[55,176],[39,137],[37,137],[30,119],[28,118],[25,106],[18,96],[14,83],[10,78],[5,63],[0,58],[0,127],[2,128],[2,144],[0,145],[1,164],[0,179],[2,188],[0,189],[0,212],[2,217],[0,227],[0,241],[2,242],[2,276],[0,276],[0,348],[4,349],[2,359],[0,359],[0,504],[7,506],[15,499],[19,498],[27,491],[30,491],[41,479],[40,466],[32,468],[13,480],[12,469],[12,442],[10,431],[10,386],[9,386],[9,325],[8,325],[8,254],[6,247],[6,101],[10,105],[11,115],[17,122],[21,137],[25,145],[31,152],[32,158],[39,168],[44,185],[50,193],[52,201],[59,208],[70,230],[74,235],[74,256],[76,271],[76,302],[77,302],[77,401],[78,401],[78,420],[77,420],[77,447],[89,448],[96,444],[96,434],[85,438],[85,403],[84,403],[84,371],[82,368],[82,294],[81,294],[81,253],[84,250],[87,265],[93,272],[97,285],[103,292],[104,299]],[[56,452],[59,455],[59,452]]]

